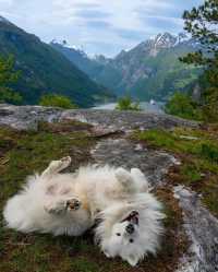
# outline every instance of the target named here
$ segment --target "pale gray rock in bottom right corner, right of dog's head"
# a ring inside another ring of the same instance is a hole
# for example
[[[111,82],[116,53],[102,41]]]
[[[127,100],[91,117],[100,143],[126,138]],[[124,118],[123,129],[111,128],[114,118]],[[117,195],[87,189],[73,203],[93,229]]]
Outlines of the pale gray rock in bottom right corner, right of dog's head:
[[[178,186],[174,197],[179,199],[184,215],[184,228],[190,237],[190,255],[184,256],[178,272],[218,271],[218,221],[205,209],[199,197]]]

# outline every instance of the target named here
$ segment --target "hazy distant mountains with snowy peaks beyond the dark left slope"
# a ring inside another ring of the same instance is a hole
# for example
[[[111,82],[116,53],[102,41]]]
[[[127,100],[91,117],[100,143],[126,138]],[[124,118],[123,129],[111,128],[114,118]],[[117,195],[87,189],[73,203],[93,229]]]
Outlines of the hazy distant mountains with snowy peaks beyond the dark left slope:
[[[199,46],[184,33],[178,36],[158,34],[129,51],[121,51],[113,59],[104,56],[88,58],[83,50],[69,46],[66,42],[53,40],[50,45],[118,96],[128,93],[142,100],[164,100],[175,91],[190,88],[201,73],[199,69],[179,61],[179,57]]]

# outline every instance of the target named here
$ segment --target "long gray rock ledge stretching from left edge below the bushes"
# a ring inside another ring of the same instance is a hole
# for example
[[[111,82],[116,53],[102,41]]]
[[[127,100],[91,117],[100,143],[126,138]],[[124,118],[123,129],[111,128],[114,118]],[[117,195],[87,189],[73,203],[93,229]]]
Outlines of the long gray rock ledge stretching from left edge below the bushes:
[[[116,111],[97,109],[62,110],[40,106],[0,105],[0,125],[16,129],[37,129],[39,121],[80,120],[107,130],[129,131],[133,129],[166,128],[178,126],[197,127],[194,121],[162,115],[136,111]]]

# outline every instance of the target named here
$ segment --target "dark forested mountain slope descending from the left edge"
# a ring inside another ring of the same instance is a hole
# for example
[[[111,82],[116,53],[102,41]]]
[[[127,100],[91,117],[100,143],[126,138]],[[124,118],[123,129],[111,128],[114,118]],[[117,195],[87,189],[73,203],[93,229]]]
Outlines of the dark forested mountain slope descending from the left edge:
[[[13,87],[22,93],[25,104],[37,104],[46,93],[66,95],[83,107],[114,97],[112,92],[90,80],[73,61],[2,16],[0,55],[14,56],[15,68],[22,71],[22,76]]]

